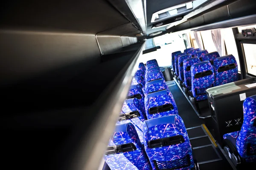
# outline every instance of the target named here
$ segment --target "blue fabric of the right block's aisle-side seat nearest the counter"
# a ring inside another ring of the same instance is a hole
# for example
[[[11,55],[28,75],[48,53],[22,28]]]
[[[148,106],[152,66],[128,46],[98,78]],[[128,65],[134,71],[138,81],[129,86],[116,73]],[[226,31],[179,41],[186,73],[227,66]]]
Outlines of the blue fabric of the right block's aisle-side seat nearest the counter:
[[[211,75],[207,75],[201,78],[195,78],[197,73],[205,72],[210,70]],[[191,77],[192,77],[192,93],[197,101],[206,100],[207,95],[205,90],[214,86],[214,70],[209,61],[204,61],[191,66]]]

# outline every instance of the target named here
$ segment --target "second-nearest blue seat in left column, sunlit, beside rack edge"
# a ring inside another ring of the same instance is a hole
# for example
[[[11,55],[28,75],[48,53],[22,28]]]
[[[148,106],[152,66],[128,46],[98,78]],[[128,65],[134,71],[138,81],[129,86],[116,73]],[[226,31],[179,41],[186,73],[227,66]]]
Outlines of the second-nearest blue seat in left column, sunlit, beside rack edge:
[[[143,122],[147,120],[145,111],[140,105],[140,100],[131,98],[125,100],[122,105],[122,111],[116,124],[125,124],[131,122],[139,135],[141,143],[143,143]]]

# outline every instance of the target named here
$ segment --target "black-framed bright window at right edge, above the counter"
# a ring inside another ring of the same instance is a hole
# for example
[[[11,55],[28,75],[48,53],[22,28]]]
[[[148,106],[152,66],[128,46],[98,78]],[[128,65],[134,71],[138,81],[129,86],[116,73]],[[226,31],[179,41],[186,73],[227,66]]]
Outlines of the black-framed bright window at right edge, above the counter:
[[[256,44],[243,43],[247,72],[256,76]]]

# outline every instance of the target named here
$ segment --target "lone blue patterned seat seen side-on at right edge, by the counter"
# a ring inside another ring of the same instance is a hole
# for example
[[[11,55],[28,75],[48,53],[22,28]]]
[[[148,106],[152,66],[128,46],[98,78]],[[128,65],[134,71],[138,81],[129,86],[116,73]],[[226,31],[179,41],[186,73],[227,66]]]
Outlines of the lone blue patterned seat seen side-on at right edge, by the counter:
[[[256,95],[244,100],[244,121],[240,131],[223,136],[231,142],[245,162],[256,162]]]

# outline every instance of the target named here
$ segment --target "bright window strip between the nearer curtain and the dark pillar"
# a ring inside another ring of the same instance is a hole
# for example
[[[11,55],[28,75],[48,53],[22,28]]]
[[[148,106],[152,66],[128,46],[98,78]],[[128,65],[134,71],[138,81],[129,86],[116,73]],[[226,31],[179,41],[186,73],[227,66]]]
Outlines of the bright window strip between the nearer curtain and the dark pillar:
[[[232,54],[236,58],[238,71],[241,72],[239,55],[237,52],[236,40],[233,35],[233,30],[231,28],[227,28],[227,29],[222,29],[221,32],[222,32],[221,35],[224,36],[224,41],[225,41],[226,49],[227,49],[227,55]]]

